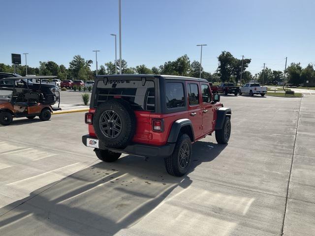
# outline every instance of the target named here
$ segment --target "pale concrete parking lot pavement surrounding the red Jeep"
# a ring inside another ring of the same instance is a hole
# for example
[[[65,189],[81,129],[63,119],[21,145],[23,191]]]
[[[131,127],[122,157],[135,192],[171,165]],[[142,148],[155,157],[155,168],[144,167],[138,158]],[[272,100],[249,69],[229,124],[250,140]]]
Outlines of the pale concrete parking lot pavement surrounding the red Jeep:
[[[185,177],[163,160],[102,163],[84,113],[0,127],[0,235],[315,235],[315,96],[221,96],[228,145],[193,145]]]

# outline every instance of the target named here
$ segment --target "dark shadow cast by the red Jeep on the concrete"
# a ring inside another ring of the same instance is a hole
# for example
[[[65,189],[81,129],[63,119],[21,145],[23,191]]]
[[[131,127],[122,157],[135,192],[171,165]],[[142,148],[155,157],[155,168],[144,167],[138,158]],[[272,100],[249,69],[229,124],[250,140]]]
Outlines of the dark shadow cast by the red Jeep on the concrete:
[[[190,172],[225,147],[196,142]],[[0,215],[0,235],[19,235],[29,225],[30,235],[111,236],[139,222],[166,197],[181,194],[192,181],[189,175],[168,175],[160,158],[126,155],[114,163],[99,162],[1,208],[6,213]]]

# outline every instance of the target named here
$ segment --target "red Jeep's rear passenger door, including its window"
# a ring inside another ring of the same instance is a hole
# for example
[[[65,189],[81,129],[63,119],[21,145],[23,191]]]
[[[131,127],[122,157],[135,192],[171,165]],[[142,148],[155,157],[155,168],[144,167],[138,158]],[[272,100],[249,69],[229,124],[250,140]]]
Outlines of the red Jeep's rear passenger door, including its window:
[[[188,93],[188,115],[192,122],[195,138],[202,136],[202,103],[198,82],[186,82]]]

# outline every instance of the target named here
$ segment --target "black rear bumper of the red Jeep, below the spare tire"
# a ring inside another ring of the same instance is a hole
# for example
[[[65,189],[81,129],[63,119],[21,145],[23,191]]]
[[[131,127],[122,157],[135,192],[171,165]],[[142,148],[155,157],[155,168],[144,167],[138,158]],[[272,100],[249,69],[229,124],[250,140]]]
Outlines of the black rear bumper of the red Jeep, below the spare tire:
[[[96,139],[90,135],[82,136],[82,143],[87,146],[87,139]],[[88,146],[87,146],[88,147]],[[144,145],[144,144],[130,144],[124,149],[119,148],[108,148],[100,140],[98,141],[98,148],[103,150],[111,150],[119,153],[125,153],[135,156],[144,156],[144,157],[168,157],[170,156],[175,148],[175,144],[166,144],[163,146],[154,146],[154,145]]]

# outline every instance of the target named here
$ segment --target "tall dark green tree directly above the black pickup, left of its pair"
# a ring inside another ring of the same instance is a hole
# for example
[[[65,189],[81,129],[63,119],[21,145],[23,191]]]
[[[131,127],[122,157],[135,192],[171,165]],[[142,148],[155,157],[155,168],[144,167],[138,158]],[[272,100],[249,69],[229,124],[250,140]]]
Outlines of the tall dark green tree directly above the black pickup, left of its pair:
[[[230,52],[223,51],[218,57],[219,66],[217,71],[221,74],[221,81],[229,81],[233,72],[235,58]]]

